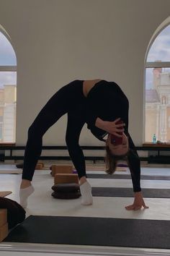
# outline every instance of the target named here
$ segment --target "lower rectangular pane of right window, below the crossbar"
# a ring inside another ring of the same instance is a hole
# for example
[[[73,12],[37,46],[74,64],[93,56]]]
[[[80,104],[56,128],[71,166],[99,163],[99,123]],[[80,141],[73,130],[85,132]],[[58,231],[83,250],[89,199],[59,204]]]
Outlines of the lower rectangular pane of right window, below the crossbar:
[[[170,67],[146,69],[146,142],[170,142]]]

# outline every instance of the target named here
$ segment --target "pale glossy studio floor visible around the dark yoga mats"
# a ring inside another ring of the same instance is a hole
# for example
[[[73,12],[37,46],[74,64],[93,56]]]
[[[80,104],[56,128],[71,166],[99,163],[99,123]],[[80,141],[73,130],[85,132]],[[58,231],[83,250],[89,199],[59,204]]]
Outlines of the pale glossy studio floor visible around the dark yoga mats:
[[[87,166],[87,174],[104,174],[102,166],[97,164]],[[14,165],[1,164],[1,169],[15,170]],[[99,171],[97,171],[99,169]],[[129,174],[126,171],[117,171],[115,174]],[[141,168],[143,175],[170,176],[169,166],[145,166]],[[0,190],[12,191],[7,196],[19,202],[19,184],[22,174],[0,174]],[[132,197],[94,197],[93,205],[81,205],[81,198],[76,200],[58,200],[51,196],[53,192],[53,177],[47,167],[43,170],[35,171],[32,181],[35,192],[28,201],[26,209],[27,216],[79,216],[79,217],[99,217],[99,218],[132,218],[148,220],[170,221],[170,198],[145,198],[149,209],[128,211],[126,205],[133,203]],[[91,187],[132,187],[131,179],[89,179]],[[169,180],[141,180],[142,188],[162,188],[170,189]],[[87,227],[88,228],[88,227]],[[143,234],[144,236],[145,234]],[[0,255],[170,255],[170,249],[145,249],[130,247],[91,247],[73,246],[61,244],[17,244],[1,242]]]

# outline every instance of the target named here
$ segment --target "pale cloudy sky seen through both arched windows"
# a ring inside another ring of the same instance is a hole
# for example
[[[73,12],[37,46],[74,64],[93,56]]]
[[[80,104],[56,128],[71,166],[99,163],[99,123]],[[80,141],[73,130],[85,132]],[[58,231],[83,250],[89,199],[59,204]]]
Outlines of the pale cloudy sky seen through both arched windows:
[[[170,61],[170,25],[164,28],[153,41],[147,61]],[[0,32],[0,66],[16,66],[17,59],[9,40]],[[153,69],[146,69],[146,89],[153,88]],[[169,72],[170,69],[163,69]],[[17,82],[16,72],[0,72],[0,88]]]

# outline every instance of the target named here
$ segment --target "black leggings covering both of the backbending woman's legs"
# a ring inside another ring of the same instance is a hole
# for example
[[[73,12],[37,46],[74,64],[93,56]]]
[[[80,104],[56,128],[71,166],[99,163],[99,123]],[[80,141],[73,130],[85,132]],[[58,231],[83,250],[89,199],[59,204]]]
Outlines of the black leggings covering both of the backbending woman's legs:
[[[86,176],[84,154],[79,146],[79,136],[85,124],[81,109],[85,106],[83,81],[75,80],[58,90],[45,104],[28,129],[27,145],[24,152],[22,179],[32,181],[35,166],[42,152],[42,136],[64,114],[68,114],[66,145],[79,179]]]

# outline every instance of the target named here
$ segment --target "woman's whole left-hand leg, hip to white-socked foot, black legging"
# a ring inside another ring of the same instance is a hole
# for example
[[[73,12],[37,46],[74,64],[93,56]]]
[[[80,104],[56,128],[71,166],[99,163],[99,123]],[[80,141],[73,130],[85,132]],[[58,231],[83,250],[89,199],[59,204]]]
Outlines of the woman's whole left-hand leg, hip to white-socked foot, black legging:
[[[81,102],[83,100],[81,84],[81,81],[76,80],[58,90],[58,92],[50,98],[44,108],[42,108],[40,114],[38,114],[28,130],[21,191],[19,193],[20,202],[24,207],[27,205],[27,197],[33,192],[31,181],[37,160],[42,151],[42,136],[61,116],[66,114],[74,105],[77,105],[79,101]]]

